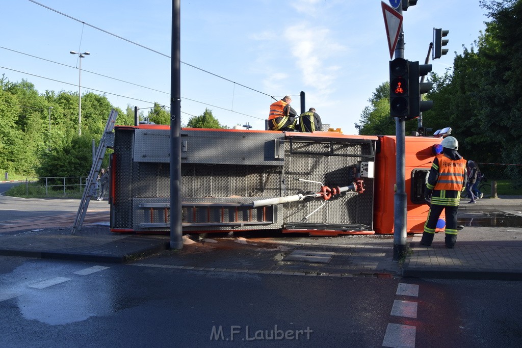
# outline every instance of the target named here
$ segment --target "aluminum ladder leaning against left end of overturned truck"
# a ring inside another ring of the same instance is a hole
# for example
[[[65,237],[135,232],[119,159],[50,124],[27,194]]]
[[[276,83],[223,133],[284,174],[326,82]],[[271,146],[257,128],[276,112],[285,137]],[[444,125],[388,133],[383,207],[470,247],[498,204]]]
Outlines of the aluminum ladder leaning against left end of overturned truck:
[[[112,131],[114,129],[117,116],[118,112],[112,109],[109,118],[107,119],[105,130],[103,131],[103,135],[100,139],[100,144],[98,145],[98,149],[96,150],[96,154],[92,160],[91,171],[89,173],[89,177],[87,178],[84,194],[81,196],[81,202],[80,206],[78,207],[78,212],[76,213],[76,218],[74,219],[73,229],[71,230],[72,234],[76,233],[77,231],[81,231],[81,226],[84,224],[85,214],[87,213],[87,208],[89,207],[91,197],[96,195],[96,179],[98,178],[98,173],[100,172],[103,157],[105,156],[105,151],[108,147],[112,147],[114,145],[114,133],[112,133]]]

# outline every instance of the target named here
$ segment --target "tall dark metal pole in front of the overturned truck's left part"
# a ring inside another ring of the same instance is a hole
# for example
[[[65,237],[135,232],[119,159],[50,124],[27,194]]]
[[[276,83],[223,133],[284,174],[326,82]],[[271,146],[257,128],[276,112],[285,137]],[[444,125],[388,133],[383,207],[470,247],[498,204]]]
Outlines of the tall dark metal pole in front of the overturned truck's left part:
[[[172,0],[170,80],[170,247],[183,248],[181,217],[181,0]]]

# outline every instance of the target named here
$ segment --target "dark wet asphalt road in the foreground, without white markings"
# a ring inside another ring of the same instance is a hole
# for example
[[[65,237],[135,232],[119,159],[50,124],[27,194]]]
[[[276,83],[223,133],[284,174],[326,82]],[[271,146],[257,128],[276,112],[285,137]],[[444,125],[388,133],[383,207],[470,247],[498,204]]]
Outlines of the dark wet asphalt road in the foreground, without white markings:
[[[0,284],[2,347],[378,347],[394,339],[387,336],[390,324],[415,328],[414,344],[405,346],[522,344],[520,282],[295,277],[0,257]],[[418,286],[418,296],[397,294],[399,284]],[[394,313],[398,302],[416,310]],[[288,337],[267,339],[280,332]]]

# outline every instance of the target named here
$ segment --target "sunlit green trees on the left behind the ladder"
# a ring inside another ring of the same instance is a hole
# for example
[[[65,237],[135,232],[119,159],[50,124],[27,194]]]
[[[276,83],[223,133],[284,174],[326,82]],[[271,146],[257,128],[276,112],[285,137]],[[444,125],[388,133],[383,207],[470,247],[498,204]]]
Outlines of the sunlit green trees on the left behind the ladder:
[[[92,140],[98,145],[112,109],[118,112],[116,125],[134,124],[131,105],[123,112],[104,95],[83,94],[80,136],[77,92],[39,94],[26,80],[15,83],[2,76],[0,172],[40,177],[87,176],[92,164]],[[103,165],[108,165],[108,158]]]

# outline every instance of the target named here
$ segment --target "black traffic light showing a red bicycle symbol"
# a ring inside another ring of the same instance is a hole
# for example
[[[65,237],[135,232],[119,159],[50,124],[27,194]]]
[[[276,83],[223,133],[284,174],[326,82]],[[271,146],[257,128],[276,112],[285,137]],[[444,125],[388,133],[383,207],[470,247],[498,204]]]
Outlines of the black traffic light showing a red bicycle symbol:
[[[408,61],[395,58],[390,61],[390,116],[409,115]]]

